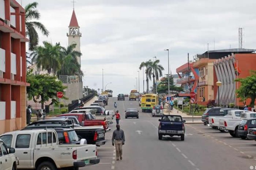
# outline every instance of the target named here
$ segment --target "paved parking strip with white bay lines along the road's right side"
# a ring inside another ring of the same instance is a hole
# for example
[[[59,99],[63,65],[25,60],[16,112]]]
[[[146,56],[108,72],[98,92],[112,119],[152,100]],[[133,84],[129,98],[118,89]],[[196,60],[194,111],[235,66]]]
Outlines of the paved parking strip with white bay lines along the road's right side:
[[[195,129],[197,134],[236,150],[243,158],[256,160],[256,141],[254,140],[234,138],[229,133],[221,133],[217,129],[212,129],[202,124],[189,124],[187,126],[188,128]]]

